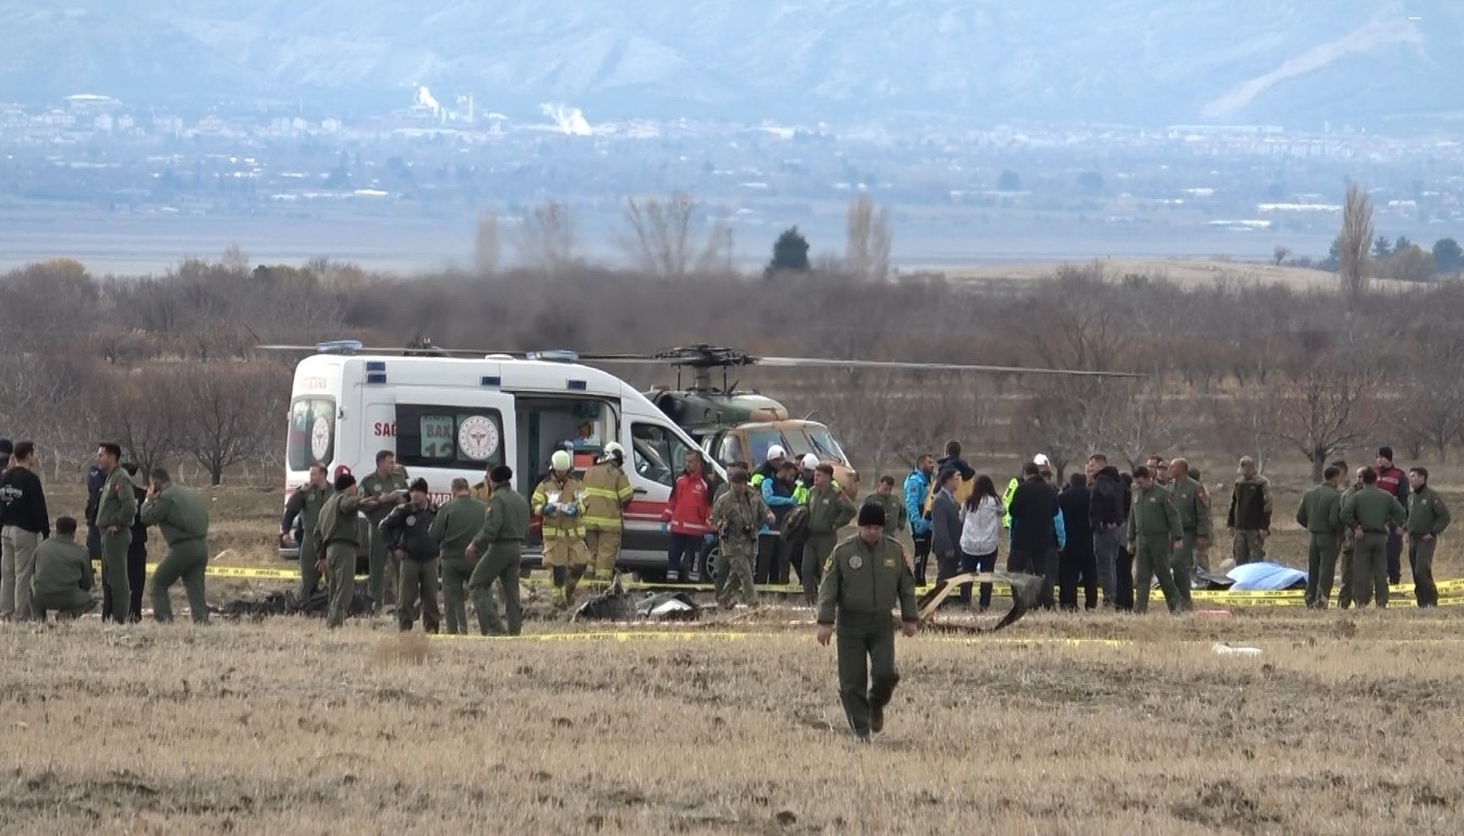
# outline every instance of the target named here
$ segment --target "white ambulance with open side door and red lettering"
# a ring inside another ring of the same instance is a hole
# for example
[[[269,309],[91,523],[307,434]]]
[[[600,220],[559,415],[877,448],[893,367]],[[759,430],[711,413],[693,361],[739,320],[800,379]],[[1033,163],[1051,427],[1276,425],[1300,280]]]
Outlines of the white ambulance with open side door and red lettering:
[[[389,449],[423,477],[433,502],[451,498],[455,477],[470,485],[498,464],[514,469],[529,496],[568,449],[583,476],[610,441],[625,448],[635,498],[625,511],[621,567],[663,575],[669,536],[662,511],[687,452],[698,445],[625,381],[580,365],[572,351],[463,356],[466,351],[363,350],[356,341],[322,343],[294,370],[285,439],[285,495],[309,480],[310,464],[357,479]],[[726,479],[716,461],[709,477]],[[536,526],[537,530],[537,526]],[[283,549],[281,556],[296,556]],[[539,558],[537,534],[526,562]]]

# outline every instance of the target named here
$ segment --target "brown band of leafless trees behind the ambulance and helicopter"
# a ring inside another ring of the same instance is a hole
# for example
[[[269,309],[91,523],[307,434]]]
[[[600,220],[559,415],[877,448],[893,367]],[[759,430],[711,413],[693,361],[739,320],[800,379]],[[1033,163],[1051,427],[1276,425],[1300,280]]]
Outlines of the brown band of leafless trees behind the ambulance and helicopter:
[[[102,438],[143,466],[193,463],[215,483],[237,466],[278,467],[296,357],[255,346],[348,337],[483,351],[713,343],[1143,375],[741,370],[744,387],[814,411],[875,470],[946,436],[997,455],[1039,449],[1060,470],[1102,448],[1130,463],[1290,455],[1319,473],[1379,441],[1411,458],[1464,444],[1464,284],[1373,287],[1373,234],[1360,217],[1344,223],[1351,255],[1338,283],[1296,288],[1227,277],[1180,285],[1101,264],[1001,285],[896,275],[887,220],[858,201],[845,259],[748,275],[701,258],[700,243],[675,243],[691,228],[675,204],[638,211],[647,231],[631,240],[649,255],[635,269],[545,245],[542,264],[410,278],[326,259],[255,265],[237,250],[164,275],[97,277],[64,259],[6,272],[0,430],[37,439],[57,470],[81,469]],[[562,221],[545,212],[545,227]],[[643,388],[675,376],[616,370]]]

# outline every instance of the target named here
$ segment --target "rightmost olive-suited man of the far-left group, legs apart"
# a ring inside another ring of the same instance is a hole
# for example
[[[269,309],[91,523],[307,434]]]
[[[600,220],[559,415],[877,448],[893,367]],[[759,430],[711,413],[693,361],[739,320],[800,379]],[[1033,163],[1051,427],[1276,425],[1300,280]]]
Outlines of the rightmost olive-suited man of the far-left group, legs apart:
[[[168,589],[183,578],[193,624],[208,624],[208,599],[203,575],[208,571],[208,504],[196,490],[173,485],[168,471],[152,469],[152,486],[142,504],[142,523],[157,526],[168,543],[168,553],[152,572],[152,618],[173,621]]]

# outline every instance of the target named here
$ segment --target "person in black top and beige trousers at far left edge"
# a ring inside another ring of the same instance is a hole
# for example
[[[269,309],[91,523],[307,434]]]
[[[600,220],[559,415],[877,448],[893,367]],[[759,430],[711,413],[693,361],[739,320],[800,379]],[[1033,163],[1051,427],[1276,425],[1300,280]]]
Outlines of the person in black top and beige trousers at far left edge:
[[[0,618],[29,621],[35,548],[51,536],[51,521],[35,474],[35,444],[22,441],[12,455],[13,466],[0,476]]]

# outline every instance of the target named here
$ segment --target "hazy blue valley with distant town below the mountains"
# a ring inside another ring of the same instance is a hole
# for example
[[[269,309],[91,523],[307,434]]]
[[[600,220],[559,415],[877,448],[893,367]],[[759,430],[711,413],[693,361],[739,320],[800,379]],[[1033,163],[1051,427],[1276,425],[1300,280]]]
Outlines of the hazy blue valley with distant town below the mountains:
[[[142,250],[152,230],[184,230],[184,249],[201,252],[243,237],[268,256],[271,242],[299,237],[281,258],[319,246],[340,252],[315,255],[369,262],[378,255],[367,243],[378,243],[398,253],[381,253],[382,264],[433,266],[468,259],[483,212],[512,224],[549,199],[577,214],[586,255],[612,259],[624,199],[673,192],[694,195],[706,223],[735,230],[747,262],[766,259],[795,224],[815,250],[842,249],[843,206],[861,190],[889,206],[905,264],[1269,258],[1278,247],[1319,259],[1348,182],[1372,193],[1381,234],[1464,237],[1464,149],[1448,136],[596,122],[569,105],[509,116],[471,97],[444,104],[427,88],[404,100],[354,114],[284,104],[183,113],[91,94],[0,104],[0,220],[20,233],[0,242],[0,264],[61,255],[94,230],[133,230],[129,246]],[[334,231],[316,236],[312,224]],[[362,253],[343,231],[351,224]],[[395,233],[382,228],[400,231],[401,245],[386,245],[382,234]]]

